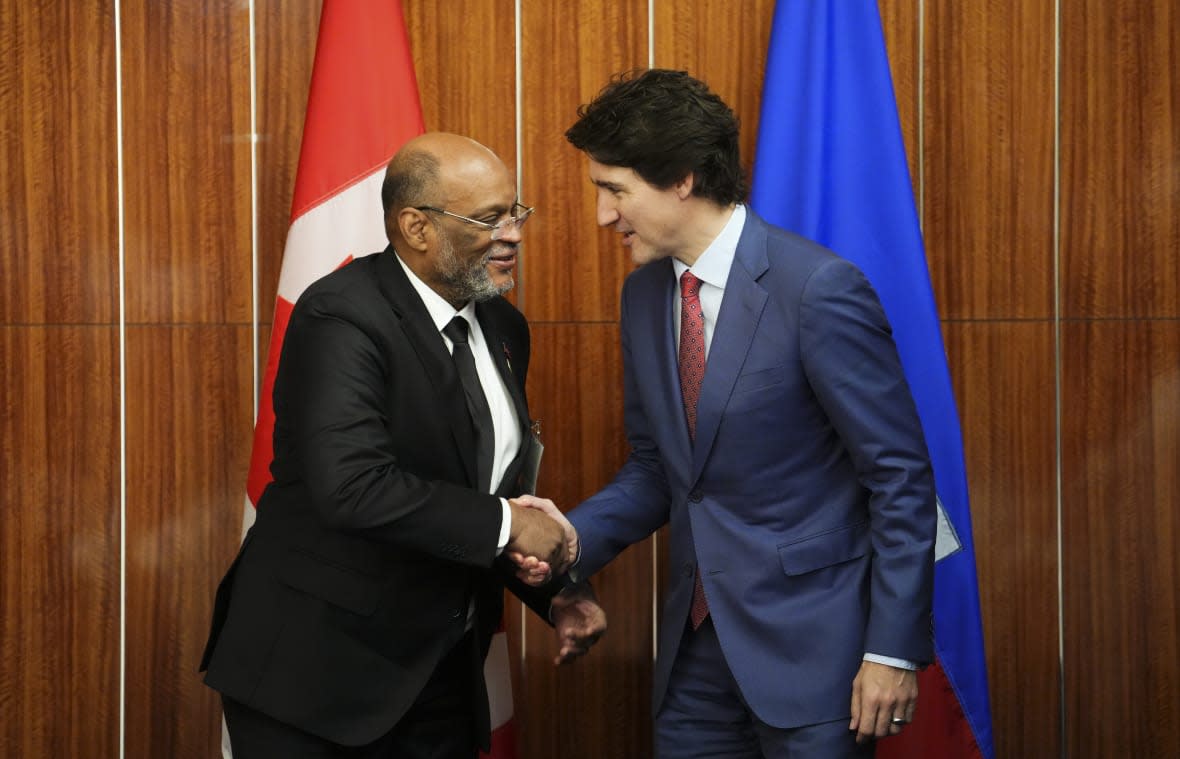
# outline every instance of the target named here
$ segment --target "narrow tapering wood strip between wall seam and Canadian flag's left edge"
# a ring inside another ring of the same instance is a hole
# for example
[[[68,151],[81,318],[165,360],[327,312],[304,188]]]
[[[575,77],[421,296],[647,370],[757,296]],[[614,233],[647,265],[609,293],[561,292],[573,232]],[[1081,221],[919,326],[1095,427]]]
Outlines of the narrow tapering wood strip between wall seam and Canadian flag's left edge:
[[[295,170],[299,168],[307,112],[320,4],[255,1],[257,66],[257,314],[274,318],[287,229],[290,227]],[[260,343],[258,372],[266,369],[267,342]]]

